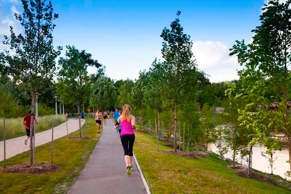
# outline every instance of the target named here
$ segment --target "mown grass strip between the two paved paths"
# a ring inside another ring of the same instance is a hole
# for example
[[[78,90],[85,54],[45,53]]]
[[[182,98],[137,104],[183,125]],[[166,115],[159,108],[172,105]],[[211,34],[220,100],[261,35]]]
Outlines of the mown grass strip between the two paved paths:
[[[87,119],[82,127],[83,137],[90,139],[78,139],[63,137],[54,141],[53,163],[59,166],[56,172],[29,175],[29,174],[0,174],[1,194],[65,194],[69,190],[74,179],[80,174],[94,150],[100,134],[97,134],[95,121]],[[79,136],[79,131],[70,134],[70,137]],[[50,143],[36,147],[35,162],[51,162]],[[29,163],[30,154],[24,152],[8,159],[7,164]],[[3,162],[0,162],[3,167]]]

